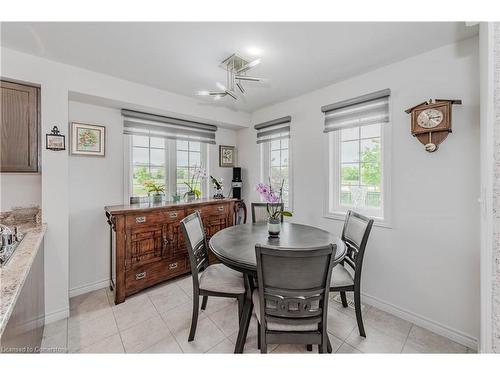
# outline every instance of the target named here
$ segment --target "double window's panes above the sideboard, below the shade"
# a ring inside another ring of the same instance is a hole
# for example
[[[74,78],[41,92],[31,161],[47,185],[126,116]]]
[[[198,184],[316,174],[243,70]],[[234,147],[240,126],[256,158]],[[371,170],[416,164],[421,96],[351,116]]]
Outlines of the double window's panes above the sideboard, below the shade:
[[[208,147],[196,141],[170,140],[141,135],[130,136],[131,178],[129,196],[146,196],[144,182],[165,185],[166,196],[183,195],[196,168],[205,168]],[[205,195],[207,184],[199,181],[196,188]],[[168,199],[168,198],[167,198]]]

